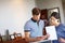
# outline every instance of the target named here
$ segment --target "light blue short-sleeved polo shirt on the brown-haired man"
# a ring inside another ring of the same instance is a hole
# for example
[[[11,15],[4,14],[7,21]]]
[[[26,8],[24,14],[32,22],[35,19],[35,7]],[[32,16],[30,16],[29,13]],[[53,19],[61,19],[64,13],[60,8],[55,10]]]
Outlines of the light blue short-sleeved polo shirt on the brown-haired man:
[[[39,20],[39,24],[37,22],[34,22],[32,19],[29,19],[26,24],[24,29],[28,30],[30,32],[30,38],[36,38],[36,37],[42,37],[43,32],[43,27],[44,27],[44,22]]]

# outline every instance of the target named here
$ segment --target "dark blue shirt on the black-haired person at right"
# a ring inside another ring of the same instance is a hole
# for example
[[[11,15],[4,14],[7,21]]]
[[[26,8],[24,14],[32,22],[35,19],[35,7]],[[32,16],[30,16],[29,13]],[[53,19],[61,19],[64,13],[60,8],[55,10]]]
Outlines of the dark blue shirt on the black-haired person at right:
[[[56,28],[57,39],[63,38],[65,39],[65,26],[60,24]],[[53,41],[53,43],[58,43],[58,41]]]

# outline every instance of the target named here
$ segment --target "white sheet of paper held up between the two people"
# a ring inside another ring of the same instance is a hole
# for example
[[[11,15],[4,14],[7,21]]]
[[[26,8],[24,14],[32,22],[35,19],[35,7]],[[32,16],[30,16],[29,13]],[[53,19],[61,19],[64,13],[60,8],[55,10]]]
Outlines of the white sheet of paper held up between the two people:
[[[50,38],[48,40],[57,40],[55,26],[46,27],[46,31],[47,31],[47,33],[50,34]]]

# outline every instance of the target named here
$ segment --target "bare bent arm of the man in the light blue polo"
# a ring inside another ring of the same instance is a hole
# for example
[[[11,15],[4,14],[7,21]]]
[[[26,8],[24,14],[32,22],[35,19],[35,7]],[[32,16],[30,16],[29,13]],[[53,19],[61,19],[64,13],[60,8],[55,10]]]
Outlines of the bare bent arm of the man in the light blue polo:
[[[25,32],[25,40],[27,42],[36,42],[36,41],[41,41],[49,38],[49,34],[43,35],[43,37],[37,37],[37,38],[30,38],[29,35],[30,35],[30,32]]]

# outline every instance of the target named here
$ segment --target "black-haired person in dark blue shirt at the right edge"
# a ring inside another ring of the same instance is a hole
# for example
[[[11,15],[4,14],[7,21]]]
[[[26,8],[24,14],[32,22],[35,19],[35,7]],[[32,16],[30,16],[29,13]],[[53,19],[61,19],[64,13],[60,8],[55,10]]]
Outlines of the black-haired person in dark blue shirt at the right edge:
[[[53,12],[50,17],[50,25],[55,26],[57,41],[53,41],[53,43],[65,43],[65,26],[60,23],[58,13]]]

